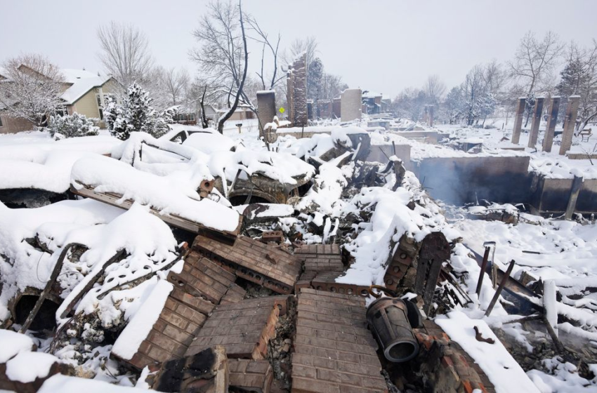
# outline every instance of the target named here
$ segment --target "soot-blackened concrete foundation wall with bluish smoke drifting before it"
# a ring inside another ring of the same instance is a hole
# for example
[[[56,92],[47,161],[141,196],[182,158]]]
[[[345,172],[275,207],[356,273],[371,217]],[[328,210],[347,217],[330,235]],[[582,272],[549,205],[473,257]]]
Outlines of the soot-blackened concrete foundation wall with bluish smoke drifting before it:
[[[487,199],[497,203],[530,201],[529,157],[438,157],[420,161],[414,173],[427,192],[448,204]]]

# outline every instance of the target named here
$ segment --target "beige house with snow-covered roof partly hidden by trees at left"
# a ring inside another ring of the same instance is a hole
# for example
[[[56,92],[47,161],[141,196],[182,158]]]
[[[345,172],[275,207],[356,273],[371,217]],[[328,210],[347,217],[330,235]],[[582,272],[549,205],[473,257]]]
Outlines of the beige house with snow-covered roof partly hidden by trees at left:
[[[4,70],[0,69],[0,83],[11,83],[6,76],[3,76],[3,72]],[[64,101],[64,108],[61,112],[84,114],[90,119],[98,119],[98,126],[104,127],[105,99],[107,95],[117,93],[120,88],[119,83],[112,76],[88,72],[84,69],[61,69],[60,72],[64,76],[63,92],[60,95]],[[18,133],[32,130],[34,127],[34,124],[25,119],[0,116],[0,133]]]

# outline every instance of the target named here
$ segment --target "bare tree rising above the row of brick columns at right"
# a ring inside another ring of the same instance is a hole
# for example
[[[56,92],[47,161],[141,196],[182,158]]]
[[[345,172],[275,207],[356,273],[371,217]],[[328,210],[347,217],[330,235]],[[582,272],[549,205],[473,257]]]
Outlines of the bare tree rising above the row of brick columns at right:
[[[511,75],[522,82],[527,95],[549,88],[547,85],[553,81],[553,67],[563,48],[554,32],[547,32],[542,40],[537,39],[533,32],[523,36],[509,66]]]

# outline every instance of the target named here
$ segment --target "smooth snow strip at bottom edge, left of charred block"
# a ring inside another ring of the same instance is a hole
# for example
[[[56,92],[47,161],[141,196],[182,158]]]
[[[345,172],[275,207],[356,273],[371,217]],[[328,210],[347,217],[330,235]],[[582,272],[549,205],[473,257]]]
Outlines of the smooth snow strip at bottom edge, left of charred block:
[[[107,382],[90,380],[86,378],[67,377],[66,375],[56,374],[48,378],[44,385],[37,391],[38,393],[133,393],[145,392],[145,389],[136,387],[124,387],[112,385]]]

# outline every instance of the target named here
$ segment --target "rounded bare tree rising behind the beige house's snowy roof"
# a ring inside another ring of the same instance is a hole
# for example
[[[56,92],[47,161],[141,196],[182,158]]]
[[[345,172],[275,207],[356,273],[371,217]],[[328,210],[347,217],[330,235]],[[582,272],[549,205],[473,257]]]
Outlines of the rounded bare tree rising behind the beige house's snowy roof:
[[[143,81],[153,64],[143,32],[133,25],[112,21],[98,28],[98,39],[99,58],[107,73],[123,86]]]

